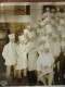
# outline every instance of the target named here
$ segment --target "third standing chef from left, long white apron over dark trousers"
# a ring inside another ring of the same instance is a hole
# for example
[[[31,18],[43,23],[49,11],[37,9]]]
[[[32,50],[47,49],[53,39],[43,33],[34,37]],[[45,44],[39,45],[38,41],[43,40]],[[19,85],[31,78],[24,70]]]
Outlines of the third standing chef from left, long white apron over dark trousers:
[[[37,37],[35,32],[28,33],[28,41],[27,41],[27,50],[28,50],[28,80],[29,84],[32,82],[35,83],[36,77],[36,70],[37,70]]]

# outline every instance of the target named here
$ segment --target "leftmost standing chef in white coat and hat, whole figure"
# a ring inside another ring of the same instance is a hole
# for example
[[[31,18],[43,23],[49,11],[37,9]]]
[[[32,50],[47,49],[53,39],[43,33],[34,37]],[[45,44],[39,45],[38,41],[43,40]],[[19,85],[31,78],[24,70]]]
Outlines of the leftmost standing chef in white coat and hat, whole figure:
[[[14,66],[14,77],[16,76],[16,71],[15,71],[15,65],[16,65],[16,60],[17,60],[17,54],[16,54],[16,44],[15,41],[15,35],[10,34],[9,35],[10,42],[6,44],[3,48],[2,55],[5,60],[5,65],[6,65],[6,77],[10,78],[11,76],[11,67],[12,65]]]

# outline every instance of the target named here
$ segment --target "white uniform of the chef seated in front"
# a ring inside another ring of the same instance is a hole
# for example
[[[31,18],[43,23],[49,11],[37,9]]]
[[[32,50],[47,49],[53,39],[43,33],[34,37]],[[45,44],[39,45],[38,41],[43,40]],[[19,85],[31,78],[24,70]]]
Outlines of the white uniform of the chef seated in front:
[[[41,48],[42,49],[42,48]],[[42,71],[43,75],[52,72],[54,58],[52,52],[40,52],[37,61],[37,71]],[[47,66],[47,67],[46,67]]]

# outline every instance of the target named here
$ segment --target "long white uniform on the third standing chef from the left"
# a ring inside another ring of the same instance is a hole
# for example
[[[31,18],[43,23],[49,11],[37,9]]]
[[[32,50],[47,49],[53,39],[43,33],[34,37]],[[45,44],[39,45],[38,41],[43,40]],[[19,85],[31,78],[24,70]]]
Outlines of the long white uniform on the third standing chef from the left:
[[[35,71],[36,66],[37,66],[38,54],[37,54],[36,45],[37,45],[36,40],[29,41],[27,44],[27,47],[28,47],[28,71]]]

